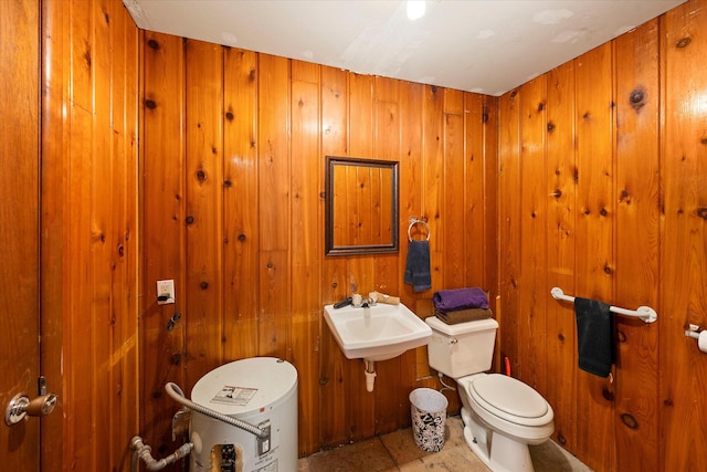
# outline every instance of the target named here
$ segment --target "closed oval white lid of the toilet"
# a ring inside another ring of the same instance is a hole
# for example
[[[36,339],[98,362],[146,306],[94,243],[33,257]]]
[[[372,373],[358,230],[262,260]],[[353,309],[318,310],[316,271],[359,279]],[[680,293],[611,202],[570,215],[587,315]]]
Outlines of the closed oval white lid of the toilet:
[[[474,379],[471,387],[477,403],[502,418],[510,415],[532,420],[548,415],[549,406],[545,398],[513,377],[489,374]]]

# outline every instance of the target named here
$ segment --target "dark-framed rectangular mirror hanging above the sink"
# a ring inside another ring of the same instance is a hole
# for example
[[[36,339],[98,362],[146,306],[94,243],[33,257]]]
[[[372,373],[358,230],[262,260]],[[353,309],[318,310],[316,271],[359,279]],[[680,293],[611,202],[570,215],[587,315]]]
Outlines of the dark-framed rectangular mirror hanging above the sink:
[[[398,162],[327,156],[327,255],[398,252]]]

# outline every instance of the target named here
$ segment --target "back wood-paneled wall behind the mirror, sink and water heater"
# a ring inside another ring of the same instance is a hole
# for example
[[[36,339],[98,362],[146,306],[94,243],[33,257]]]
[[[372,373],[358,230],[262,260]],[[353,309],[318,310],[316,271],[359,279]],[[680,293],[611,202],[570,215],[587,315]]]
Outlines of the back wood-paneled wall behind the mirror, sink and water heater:
[[[323,306],[354,284],[413,310],[443,287],[494,293],[497,98],[152,32],[143,54],[144,436],[173,449],[166,381],[190,391],[252,356],[297,368],[302,455],[409,424],[410,391],[436,385],[425,350],[377,363],[368,394]],[[327,155],[400,161],[399,254],[324,255]],[[431,227],[420,294],[402,281],[409,217]],[[157,305],[161,279],[175,305]]]

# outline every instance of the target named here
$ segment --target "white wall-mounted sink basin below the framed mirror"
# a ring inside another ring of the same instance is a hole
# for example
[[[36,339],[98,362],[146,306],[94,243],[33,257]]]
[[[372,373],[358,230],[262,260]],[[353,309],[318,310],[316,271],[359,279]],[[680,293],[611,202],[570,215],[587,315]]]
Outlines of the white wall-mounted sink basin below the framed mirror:
[[[338,310],[326,305],[324,317],[349,359],[391,359],[426,345],[432,337],[430,326],[403,304]]]

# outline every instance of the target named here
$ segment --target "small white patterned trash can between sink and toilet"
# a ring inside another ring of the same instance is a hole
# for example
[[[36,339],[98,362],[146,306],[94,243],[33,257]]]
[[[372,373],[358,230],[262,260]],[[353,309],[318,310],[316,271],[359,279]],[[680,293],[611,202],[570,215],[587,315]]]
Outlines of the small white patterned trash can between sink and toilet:
[[[446,424],[446,397],[431,388],[415,388],[410,394],[412,434],[418,448],[439,452],[444,447]]]

